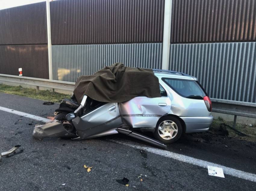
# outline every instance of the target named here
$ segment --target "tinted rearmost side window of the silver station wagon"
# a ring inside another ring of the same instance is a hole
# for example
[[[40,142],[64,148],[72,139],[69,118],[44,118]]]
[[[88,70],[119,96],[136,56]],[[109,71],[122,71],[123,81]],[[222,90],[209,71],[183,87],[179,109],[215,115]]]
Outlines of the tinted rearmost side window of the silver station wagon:
[[[203,99],[206,96],[204,89],[195,80],[162,78],[177,94],[191,99]]]

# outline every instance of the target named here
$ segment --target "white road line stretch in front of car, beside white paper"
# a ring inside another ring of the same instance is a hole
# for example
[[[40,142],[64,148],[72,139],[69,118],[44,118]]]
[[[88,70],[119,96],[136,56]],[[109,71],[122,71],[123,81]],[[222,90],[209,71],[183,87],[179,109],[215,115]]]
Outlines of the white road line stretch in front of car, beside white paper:
[[[189,163],[189,164],[192,164],[192,165],[200,166],[200,167],[203,167],[203,168],[206,168],[206,169],[208,168],[208,166],[216,166],[216,167],[222,168],[224,174],[226,174],[226,175],[231,175],[231,176],[234,176],[234,177],[237,177],[237,178],[242,178],[242,179],[245,179],[245,180],[248,180],[248,181],[256,182],[256,175],[252,174],[252,173],[232,169],[232,168],[222,166],[222,165],[219,165],[219,164],[215,164],[215,163],[211,163],[211,162],[208,162],[208,161],[196,159],[196,158],[193,158],[193,157],[188,157],[188,156],[183,155],[183,154],[177,154],[177,153],[173,153],[171,151],[166,151],[166,150],[162,150],[162,149],[158,149],[158,148],[132,145],[132,144],[125,143],[125,142],[115,141],[113,139],[110,140],[110,141],[116,142],[116,143],[119,143],[119,144],[122,144],[122,145],[126,145],[126,146],[129,146],[129,147],[137,148],[137,149],[140,149],[140,150],[148,151],[150,153],[158,154],[158,155],[168,157],[168,158],[171,158],[171,159],[179,160],[179,161]],[[206,174],[208,175],[208,172],[206,172]]]

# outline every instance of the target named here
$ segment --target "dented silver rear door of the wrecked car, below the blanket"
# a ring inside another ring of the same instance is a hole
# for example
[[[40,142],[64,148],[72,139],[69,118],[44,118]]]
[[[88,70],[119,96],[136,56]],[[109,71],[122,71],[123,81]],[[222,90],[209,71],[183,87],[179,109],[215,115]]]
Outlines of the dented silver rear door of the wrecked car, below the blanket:
[[[170,111],[171,101],[169,97],[139,96],[118,105],[125,125],[133,128],[155,128],[159,118]]]

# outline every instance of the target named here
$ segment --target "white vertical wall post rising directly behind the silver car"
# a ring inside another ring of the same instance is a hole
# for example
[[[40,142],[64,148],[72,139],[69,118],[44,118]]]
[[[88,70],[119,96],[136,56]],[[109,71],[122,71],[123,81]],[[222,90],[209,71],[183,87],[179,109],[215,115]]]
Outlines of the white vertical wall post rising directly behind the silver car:
[[[172,3],[173,3],[172,0],[165,0],[165,3],[164,3],[164,34],[163,34],[162,70],[169,69]]]

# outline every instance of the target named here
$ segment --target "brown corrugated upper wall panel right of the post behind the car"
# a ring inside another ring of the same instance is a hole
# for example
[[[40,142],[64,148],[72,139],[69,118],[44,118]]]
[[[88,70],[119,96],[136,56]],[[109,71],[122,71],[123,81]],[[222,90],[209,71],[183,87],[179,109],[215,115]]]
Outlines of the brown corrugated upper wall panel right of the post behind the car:
[[[256,40],[255,0],[173,0],[171,43]]]

